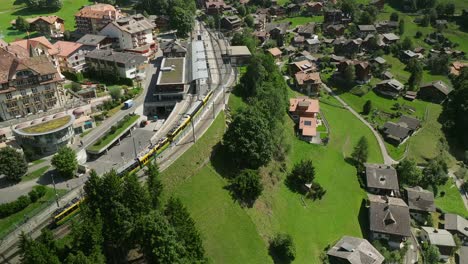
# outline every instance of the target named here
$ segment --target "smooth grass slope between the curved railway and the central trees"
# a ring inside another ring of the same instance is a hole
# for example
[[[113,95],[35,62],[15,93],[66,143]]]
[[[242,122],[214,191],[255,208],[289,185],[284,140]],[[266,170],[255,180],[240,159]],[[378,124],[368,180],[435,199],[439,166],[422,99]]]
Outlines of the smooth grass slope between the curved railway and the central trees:
[[[165,196],[188,207],[212,263],[268,263],[266,245],[246,212],[223,189],[227,181],[209,164],[212,147],[224,133],[220,115],[207,133],[162,173]]]

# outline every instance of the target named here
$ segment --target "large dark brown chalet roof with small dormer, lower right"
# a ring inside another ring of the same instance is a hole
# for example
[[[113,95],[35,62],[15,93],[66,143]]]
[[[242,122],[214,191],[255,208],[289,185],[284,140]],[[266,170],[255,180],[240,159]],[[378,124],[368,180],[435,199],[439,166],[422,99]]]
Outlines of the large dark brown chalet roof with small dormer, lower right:
[[[402,199],[373,194],[367,197],[371,231],[405,237],[411,235],[409,208]]]

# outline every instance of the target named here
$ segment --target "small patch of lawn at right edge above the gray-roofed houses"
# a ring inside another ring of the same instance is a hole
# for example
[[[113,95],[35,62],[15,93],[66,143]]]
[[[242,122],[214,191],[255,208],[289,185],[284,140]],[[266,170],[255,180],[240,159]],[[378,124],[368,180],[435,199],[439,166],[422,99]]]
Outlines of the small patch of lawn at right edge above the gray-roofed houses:
[[[444,186],[439,186],[439,193],[440,192],[445,192],[445,195],[443,197],[436,197],[435,203],[438,208],[441,208],[447,213],[468,217],[468,211],[463,204],[460,192],[455,186],[453,179],[450,178]]]

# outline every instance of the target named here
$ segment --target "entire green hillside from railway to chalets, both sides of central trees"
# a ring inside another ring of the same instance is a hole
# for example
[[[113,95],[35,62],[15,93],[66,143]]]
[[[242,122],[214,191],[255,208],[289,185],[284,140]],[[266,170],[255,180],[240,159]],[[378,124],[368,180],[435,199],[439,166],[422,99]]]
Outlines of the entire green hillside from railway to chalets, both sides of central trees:
[[[231,108],[244,104],[235,97],[231,95]],[[364,124],[341,107],[326,104],[337,105],[334,98],[326,96],[323,101],[321,109],[331,126],[327,146],[295,138],[292,120],[286,118],[285,122],[287,140],[292,142],[288,167],[311,158],[317,180],[327,190],[322,201],[306,201],[304,207],[301,196],[292,193],[280,181],[265,184],[265,191],[253,208],[241,208],[223,189],[227,181],[214,169],[209,158],[224,131],[220,117],[207,134],[162,173],[165,197],[175,193],[187,205],[213,263],[269,263],[267,241],[276,232],[293,236],[298,263],[319,263],[318,257],[324,247],[342,235],[363,236],[367,228],[361,230],[358,217],[366,195],[359,187],[355,168],[344,158],[350,155],[362,135],[369,140],[369,161],[382,162],[382,156],[376,139]],[[284,174],[272,175],[264,181],[282,178]]]

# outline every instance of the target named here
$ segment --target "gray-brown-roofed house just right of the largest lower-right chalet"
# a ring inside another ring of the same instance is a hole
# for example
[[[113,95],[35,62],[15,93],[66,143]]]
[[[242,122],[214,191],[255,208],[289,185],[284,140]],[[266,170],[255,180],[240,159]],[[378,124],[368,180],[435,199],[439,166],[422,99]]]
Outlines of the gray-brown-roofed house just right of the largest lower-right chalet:
[[[424,221],[425,217],[435,212],[434,193],[424,190],[420,186],[406,187],[406,201],[413,218]]]

